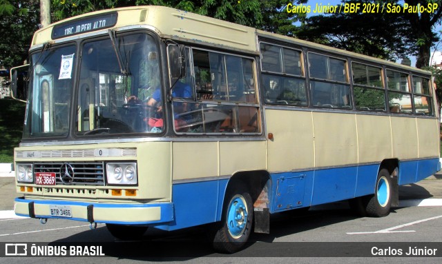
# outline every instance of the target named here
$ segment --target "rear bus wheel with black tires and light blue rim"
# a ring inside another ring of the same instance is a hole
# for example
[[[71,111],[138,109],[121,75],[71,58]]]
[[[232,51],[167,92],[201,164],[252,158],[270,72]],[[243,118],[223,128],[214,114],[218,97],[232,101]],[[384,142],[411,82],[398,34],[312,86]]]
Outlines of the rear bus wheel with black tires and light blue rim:
[[[361,216],[387,216],[392,207],[392,192],[390,172],[387,169],[381,169],[376,179],[374,194],[352,199],[349,201],[349,205]]]

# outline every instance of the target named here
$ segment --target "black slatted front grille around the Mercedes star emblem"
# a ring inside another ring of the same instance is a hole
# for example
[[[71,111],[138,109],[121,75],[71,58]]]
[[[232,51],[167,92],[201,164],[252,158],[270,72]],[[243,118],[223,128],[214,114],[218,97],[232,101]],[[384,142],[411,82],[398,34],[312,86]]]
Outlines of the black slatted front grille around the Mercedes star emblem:
[[[60,178],[63,162],[34,163],[34,172],[55,173],[55,184],[65,185]],[[104,162],[70,162],[74,172],[73,182],[69,185],[104,186]]]

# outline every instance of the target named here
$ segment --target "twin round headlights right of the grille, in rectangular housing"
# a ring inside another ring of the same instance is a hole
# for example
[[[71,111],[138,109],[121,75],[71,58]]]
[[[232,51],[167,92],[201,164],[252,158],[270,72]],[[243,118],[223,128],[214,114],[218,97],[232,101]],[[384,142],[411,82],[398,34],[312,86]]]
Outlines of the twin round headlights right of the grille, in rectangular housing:
[[[109,184],[136,185],[137,163],[107,163],[106,178]]]

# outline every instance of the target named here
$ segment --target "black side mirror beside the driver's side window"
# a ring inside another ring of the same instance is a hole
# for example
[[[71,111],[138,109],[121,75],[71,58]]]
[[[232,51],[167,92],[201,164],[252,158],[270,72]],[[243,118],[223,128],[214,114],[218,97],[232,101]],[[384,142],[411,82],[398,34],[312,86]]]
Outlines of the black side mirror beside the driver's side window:
[[[169,52],[169,72],[172,82],[186,77],[186,48],[181,44],[171,44],[167,47]]]

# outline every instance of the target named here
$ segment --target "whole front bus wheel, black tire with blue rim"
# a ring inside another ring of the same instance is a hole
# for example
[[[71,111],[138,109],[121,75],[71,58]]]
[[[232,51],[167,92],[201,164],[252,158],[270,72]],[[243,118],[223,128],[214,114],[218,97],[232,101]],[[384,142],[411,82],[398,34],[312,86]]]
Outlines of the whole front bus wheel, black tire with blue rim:
[[[252,223],[253,205],[250,194],[243,186],[233,187],[224,201],[221,225],[215,230],[215,250],[224,253],[240,250],[249,239]]]

